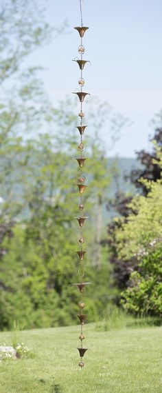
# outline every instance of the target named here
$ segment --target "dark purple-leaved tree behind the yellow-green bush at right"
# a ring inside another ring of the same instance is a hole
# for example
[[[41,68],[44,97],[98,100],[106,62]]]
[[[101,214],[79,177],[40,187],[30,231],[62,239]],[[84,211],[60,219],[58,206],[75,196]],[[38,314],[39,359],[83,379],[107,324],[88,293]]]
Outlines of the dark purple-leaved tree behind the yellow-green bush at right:
[[[157,117],[158,121],[152,122],[155,127],[153,141],[157,143],[157,146],[161,149],[162,143],[162,129],[161,129],[161,113]],[[143,195],[148,194],[148,187],[145,182],[141,179],[148,179],[156,182],[161,179],[161,167],[159,156],[157,155],[157,147],[153,144],[152,152],[146,152],[141,150],[137,153],[137,159],[141,161],[141,169],[135,169],[125,176],[126,179],[130,180],[133,185],[136,186],[137,190],[141,190]],[[108,209],[113,206],[116,212],[119,214],[117,220],[113,220],[108,224],[108,248],[111,254],[110,260],[113,265],[113,276],[114,282],[119,290],[124,290],[130,285],[130,274],[132,270],[136,270],[138,261],[136,258],[129,259],[126,261],[124,258],[119,258],[117,251],[118,241],[116,233],[118,228],[122,228],[122,223],[127,223],[131,214],[137,214],[135,205],[132,206],[133,195],[124,195],[119,190],[116,194],[115,200],[109,202]]]

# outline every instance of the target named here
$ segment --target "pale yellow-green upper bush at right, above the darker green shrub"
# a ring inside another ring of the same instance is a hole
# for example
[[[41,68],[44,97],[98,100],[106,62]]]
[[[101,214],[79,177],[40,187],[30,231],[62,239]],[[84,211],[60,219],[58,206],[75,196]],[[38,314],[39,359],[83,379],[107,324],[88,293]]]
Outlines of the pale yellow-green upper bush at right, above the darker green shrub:
[[[162,235],[161,181],[156,183],[147,181],[147,185],[150,188],[148,196],[137,196],[130,203],[130,208],[138,214],[130,214],[128,222],[117,232],[117,240],[120,243],[119,255],[124,258],[142,253],[150,242],[159,239]]]

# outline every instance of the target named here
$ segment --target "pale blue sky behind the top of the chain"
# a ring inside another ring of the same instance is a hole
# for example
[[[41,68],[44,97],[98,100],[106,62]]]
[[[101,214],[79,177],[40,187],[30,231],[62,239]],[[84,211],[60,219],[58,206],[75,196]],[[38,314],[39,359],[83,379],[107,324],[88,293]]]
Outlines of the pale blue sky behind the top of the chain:
[[[45,88],[56,104],[78,88],[80,72],[71,60],[78,56],[79,0],[47,0],[46,18],[51,26],[67,20],[66,34],[32,54],[43,66]],[[150,149],[150,121],[162,109],[162,0],[82,0],[84,35],[84,91],[108,101],[115,112],[130,119],[109,156],[135,157]],[[84,112],[86,101],[84,101]],[[78,113],[78,112],[77,112]],[[88,129],[87,129],[88,130]],[[93,132],[91,130],[90,132]],[[102,137],[108,144],[107,129]]]

